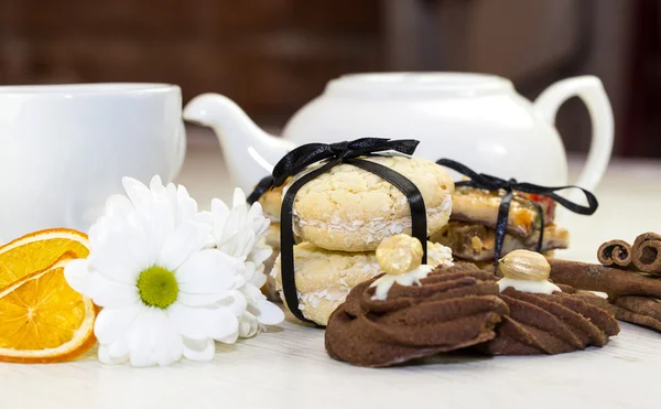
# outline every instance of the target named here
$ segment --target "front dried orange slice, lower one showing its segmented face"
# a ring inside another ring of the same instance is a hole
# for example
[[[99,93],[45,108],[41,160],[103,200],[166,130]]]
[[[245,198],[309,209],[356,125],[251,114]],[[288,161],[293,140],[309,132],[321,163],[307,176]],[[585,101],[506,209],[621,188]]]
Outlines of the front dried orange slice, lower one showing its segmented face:
[[[0,360],[71,360],[95,344],[95,305],[64,278],[64,266],[77,257],[65,252],[52,267],[0,290]]]

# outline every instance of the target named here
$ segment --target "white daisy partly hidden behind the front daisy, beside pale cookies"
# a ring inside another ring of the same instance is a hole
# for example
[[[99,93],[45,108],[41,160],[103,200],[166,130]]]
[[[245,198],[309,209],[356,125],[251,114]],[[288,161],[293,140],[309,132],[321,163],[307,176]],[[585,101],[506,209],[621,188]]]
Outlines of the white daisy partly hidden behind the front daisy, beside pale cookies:
[[[284,320],[282,310],[267,300],[260,289],[267,282],[264,260],[272,249],[261,238],[267,234],[270,220],[264,217],[261,205],[248,206],[246,195],[235,190],[231,209],[220,200],[212,201],[212,211],[201,214],[201,219],[212,226],[214,247],[243,263],[243,284],[235,291],[237,302],[246,310],[239,320],[239,336],[250,337]]]

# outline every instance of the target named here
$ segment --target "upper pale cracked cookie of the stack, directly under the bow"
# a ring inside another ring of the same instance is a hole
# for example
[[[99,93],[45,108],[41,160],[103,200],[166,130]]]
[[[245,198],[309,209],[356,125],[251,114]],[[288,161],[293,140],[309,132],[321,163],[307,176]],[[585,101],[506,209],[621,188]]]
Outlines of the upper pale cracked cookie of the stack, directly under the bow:
[[[405,157],[365,158],[408,177],[424,198],[427,236],[447,224],[454,182],[436,163]],[[387,237],[411,234],[407,197],[373,173],[339,164],[306,183],[293,206],[294,233],[303,241],[339,251],[371,251]]]

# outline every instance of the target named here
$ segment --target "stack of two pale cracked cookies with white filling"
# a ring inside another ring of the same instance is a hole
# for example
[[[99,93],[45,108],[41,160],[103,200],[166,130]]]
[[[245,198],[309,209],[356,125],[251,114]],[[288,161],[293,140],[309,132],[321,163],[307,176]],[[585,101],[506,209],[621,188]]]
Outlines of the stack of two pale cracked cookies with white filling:
[[[454,183],[444,168],[418,158],[366,160],[394,170],[418,186],[424,198],[427,236],[447,224]],[[351,288],[380,273],[375,250],[381,240],[411,234],[411,211],[407,197],[389,182],[360,168],[339,164],[299,191],[293,226],[299,309],[306,319],[326,325]],[[449,263],[452,254],[430,243],[427,259],[430,265]],[[279,261],[272,277],[283,298]]]

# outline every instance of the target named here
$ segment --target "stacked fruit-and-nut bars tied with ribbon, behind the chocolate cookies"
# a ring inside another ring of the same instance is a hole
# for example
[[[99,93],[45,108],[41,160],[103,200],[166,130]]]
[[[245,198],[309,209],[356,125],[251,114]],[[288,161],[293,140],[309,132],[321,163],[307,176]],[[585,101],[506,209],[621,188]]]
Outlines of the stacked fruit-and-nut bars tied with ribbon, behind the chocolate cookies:
[[[491,262],[495,258],[498,206],[505,191],[489,192],[460,186],[453,194],[449,223],[430,239],[452,248],[454,257],[473,262]],[[544,212],[541,251],[567,248],[570,235],[554,224],[555,202],[537,195],[514,195],[507,220],[501,257],[517,249],[535,249],[540,237],[540,214],[531,201]]]

